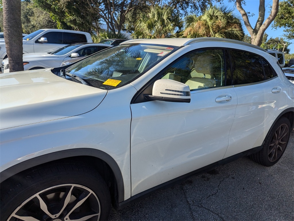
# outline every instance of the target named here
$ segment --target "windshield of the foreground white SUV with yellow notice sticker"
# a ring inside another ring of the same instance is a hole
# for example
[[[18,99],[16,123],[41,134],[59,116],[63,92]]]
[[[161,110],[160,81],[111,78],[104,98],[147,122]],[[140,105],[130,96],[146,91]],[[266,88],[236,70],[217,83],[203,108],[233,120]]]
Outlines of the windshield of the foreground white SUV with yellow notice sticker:
[[[143,43],[118,45],[77,62],[64,74],[76,75],[93,87],[110,90],[132,82],[176,48]]]

